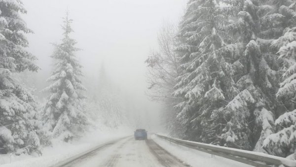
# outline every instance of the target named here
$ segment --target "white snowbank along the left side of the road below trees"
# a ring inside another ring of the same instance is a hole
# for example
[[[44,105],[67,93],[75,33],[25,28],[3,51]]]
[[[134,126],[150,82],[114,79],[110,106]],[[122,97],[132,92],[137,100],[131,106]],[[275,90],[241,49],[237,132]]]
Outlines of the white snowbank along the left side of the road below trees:
[[[43,148],[43,155],[41,157],[29,155],[0,155],[0,167],[52,166],[97,145],[127,135],[132,135],[132,131],[129,128],[121,128],[117,130],[103,128],[99,131],[90,131],[79,140],[71,143],[53,140],[52,146]]]

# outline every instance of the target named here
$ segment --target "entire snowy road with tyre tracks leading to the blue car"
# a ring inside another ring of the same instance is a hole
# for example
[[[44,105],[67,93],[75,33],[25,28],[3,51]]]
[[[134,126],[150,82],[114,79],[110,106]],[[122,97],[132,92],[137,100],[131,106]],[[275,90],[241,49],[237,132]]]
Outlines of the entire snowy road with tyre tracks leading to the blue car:
[[[189,167],[153,140],[128,137],[103,146],[63,167]]]

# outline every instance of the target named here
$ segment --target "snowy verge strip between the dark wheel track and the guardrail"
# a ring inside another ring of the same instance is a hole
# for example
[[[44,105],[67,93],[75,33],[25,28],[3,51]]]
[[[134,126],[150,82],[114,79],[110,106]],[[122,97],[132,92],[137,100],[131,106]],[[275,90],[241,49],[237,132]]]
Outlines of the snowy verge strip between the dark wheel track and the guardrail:
[[[189,149],[188,147],[173,142],[170,143],[154,134],[151,138],[166,151],[175,157],[178,157],[181,161],[184,161],[191,167],[252,167],[226,158],[212,156],[205,152]]]

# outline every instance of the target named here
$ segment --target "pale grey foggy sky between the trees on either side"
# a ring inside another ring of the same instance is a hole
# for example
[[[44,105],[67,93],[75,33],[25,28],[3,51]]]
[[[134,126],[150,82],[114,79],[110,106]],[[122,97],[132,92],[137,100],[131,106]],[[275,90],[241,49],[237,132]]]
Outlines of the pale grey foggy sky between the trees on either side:
[[[28,13],[23,16],[33,34],[28,35],[29,51],[41,68],[34,87],[37,95],[48,83],[52,70],[51,43],[62,38],[62,17],[66,10],[74,20],[72,37],[83,66],[84,83],[92,80],[103,65],[113,83],[134,100],[135,113],[145,114],[143,125],[161,128],[160,108],[146,96],[147,67],[144,61],[150,50],[157,49],[157,33],[163,22],[178,24],[185,0],[24,0]],[[87,84],[87,83],[86,83]],[[145,127],[148,126],[148,127]]]

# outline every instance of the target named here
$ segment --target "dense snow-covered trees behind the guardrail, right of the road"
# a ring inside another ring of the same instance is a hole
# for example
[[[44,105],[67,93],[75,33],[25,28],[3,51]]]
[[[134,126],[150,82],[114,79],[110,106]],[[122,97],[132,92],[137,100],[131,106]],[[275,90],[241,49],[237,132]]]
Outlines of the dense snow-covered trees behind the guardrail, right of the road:
[[[296,2],[188,0],[148,65],[171,135],[287,157],[296,150]]]

